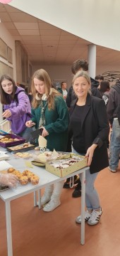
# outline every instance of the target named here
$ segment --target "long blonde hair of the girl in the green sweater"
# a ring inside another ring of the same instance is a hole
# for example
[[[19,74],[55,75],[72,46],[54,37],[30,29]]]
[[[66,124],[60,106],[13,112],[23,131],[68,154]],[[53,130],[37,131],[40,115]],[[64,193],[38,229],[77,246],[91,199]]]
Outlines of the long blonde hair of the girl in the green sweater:
[[[49,78],[49,75],[47,71],[44,69],[40,69],[35,71],[35,73],[32,75],[32,82],[31,82],[31,92],[32,92],[32,107],[36,108],[38,105],[40,105],[40,101],[42,100],[42,95],[37,92],[35,85],[34,85],[34,78],[37,78],[38,80],[44,82],[45,85],[45,95],[48,97],[48,108],[49,110],[54,110],[54,97],[61,95],[57,90],[52,88],[52,80]],[[40,100],[36,99],[36,95],[40,98]]]

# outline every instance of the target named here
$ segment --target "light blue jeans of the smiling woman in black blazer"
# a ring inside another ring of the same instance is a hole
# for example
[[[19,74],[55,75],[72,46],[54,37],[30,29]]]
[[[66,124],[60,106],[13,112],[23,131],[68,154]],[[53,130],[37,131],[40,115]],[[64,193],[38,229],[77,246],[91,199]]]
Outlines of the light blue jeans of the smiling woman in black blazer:
[[[78,154],[75,149],[73,149],[73,152]],[[94,187],[97,174],[98,173],[90,174],[90,169],[88,169],[85,173],[85,204],[88,210],[100,209],[100,198]],[[80,174],[80,181],[81,181],[81,174]]]

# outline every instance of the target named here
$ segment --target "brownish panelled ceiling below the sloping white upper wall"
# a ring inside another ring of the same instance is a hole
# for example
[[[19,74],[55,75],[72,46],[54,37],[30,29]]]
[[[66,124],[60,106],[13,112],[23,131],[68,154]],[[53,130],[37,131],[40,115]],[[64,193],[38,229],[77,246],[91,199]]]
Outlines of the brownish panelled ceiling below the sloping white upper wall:
[[[89,41],[74,36],[23,11],[0,4],[1,22],[16,41],[21,41],[33,65],[71,65],[88,59]],[[97,46],[97,65],[120,64],[120,52]]]

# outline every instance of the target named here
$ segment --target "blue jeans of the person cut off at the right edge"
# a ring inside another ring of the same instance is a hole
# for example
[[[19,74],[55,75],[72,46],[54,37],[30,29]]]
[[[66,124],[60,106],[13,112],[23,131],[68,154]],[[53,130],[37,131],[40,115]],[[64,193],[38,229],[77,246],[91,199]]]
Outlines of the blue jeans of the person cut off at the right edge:
[[[112,124],[112,136],[110,141],[109,167],[116,170],[119,166],[120,154],[120,125],[118,119],[114,119]]]

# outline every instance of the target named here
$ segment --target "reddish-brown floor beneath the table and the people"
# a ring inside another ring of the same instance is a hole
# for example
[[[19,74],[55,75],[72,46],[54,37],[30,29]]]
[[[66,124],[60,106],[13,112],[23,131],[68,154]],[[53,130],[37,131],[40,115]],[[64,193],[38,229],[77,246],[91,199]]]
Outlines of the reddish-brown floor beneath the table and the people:
[[[119,166],[120,167],[120,166]],[[33,194],[11,203],[13,256],[119,256],[120,168],[104,169],[95,183],[103,214],[96,226],[85,224],[85,245],[80,245],[80,198],[63,189],[61,206],[51,213],[33,207]],[[0,200],[0,256],[7,256],[4,202]]]

